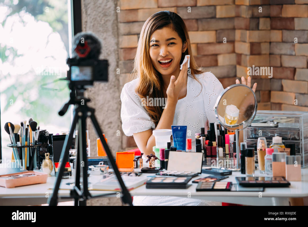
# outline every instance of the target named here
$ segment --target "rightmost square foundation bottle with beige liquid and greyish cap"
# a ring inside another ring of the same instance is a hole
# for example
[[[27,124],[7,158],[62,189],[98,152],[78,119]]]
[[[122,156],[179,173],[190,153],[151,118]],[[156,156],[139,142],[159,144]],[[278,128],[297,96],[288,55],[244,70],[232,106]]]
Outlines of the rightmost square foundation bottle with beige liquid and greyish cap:
[[[288,181],[302,180],[300,155],[286,156],[286,179]]]

